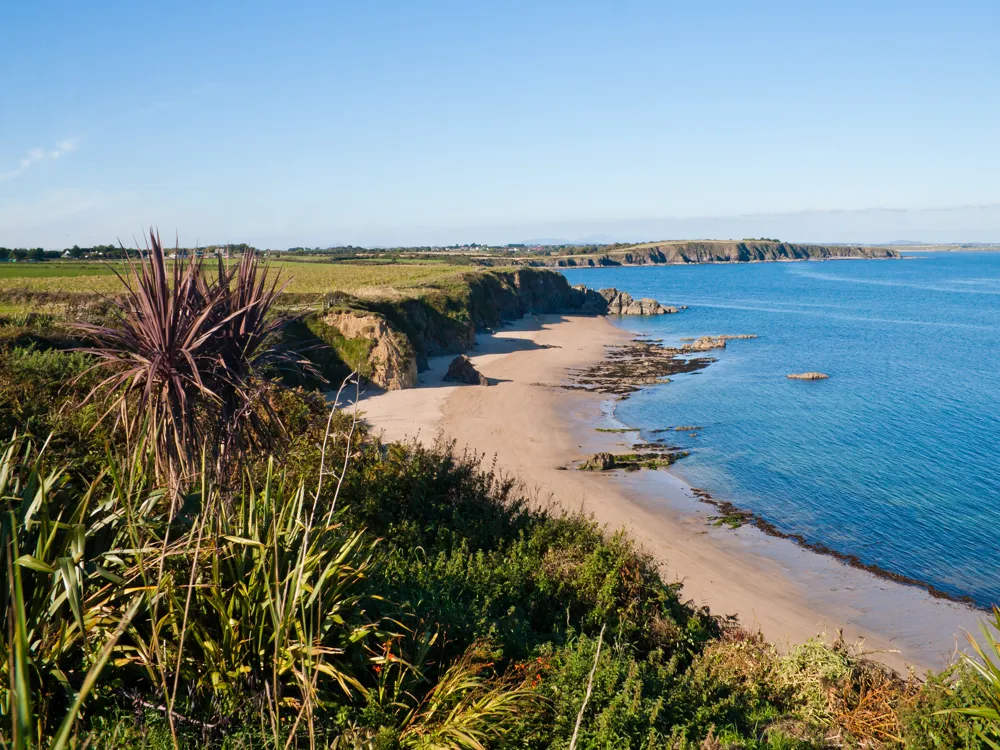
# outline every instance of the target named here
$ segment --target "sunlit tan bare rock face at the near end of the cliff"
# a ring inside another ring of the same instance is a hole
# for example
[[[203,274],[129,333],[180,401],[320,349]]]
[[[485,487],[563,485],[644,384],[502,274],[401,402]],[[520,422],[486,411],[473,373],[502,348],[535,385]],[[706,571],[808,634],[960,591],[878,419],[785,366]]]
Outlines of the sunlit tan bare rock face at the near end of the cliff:
[[[406,336],[376,313],[333,312],[324,322],[346,339],[370,342],[359,368],[371,382],[389,391],[412,388],[417,383],[417,358]]]

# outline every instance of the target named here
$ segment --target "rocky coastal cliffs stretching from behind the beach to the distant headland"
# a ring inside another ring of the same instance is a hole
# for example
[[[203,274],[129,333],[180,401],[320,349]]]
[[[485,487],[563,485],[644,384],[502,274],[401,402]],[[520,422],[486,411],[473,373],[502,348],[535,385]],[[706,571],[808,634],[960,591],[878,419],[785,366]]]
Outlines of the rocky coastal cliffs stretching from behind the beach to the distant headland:
[[[545,262],[597,267],[898,257],[898,252],[887,248],[699,240],[617,247],[600,255],[552,256]],[[414,385],[428,357],[467,352],[475,345],[477,331],[524,315],[662,315],[678,309],[656,300],[634,300],[617,289],[574,287],[549,268],[482,268],[415,293],[330,294],[322,314],[294,321],[286,332],[298,346],[310,349],[308,358],[327,382],[339,382],[357,371],[370,382],[394,390]],[[306,377],[294,382],[318,385],[322,381]]]

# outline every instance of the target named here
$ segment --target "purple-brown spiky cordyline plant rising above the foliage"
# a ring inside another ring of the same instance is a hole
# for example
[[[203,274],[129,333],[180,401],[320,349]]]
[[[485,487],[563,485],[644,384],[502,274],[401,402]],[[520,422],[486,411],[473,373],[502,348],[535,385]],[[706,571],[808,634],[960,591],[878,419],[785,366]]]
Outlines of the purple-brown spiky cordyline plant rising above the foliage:
[[[124,249],[124,248],[123,248]],[[178,489],[207,456],[220,475],[249,449],[273,449],[284,429],[267,398],[268,365],[290,357],[273,345],[282,321],[269,315],[277,275],[255,251],[214,278],[200,258],[167,263],[157,232],[146,252],[126,253],[115,271],[122,295],[111,325],[77,323],[95,368],[110,374],[87,399],[103,397],[133,449],[148,451],[157,475]]]

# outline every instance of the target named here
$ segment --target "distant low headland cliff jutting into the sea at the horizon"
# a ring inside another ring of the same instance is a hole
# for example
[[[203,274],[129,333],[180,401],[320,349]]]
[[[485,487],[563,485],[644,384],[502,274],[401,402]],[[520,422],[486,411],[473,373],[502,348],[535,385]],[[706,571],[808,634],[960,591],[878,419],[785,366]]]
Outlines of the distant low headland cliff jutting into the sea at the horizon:
[[[672,242],[611,252],[599,258],[565,258],[561,266],[669,263],[753,263],[831,258],[899,258],[896,250],[860,245],[797,245],[791,242]]]

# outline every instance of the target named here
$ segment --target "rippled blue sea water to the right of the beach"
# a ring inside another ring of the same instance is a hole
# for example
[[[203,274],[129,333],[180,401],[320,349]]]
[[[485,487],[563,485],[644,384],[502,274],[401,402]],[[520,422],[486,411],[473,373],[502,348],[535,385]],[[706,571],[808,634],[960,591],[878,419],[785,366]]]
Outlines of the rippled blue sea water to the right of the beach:
[[[615,319],[719,361],[621,402],[619,420],[703,425],[673,469],[865,563],[1000,602],[1000,253],[896,261],[567,270],[574,284],[688,305]],[[794,381],[818,370],[823,381]]]

